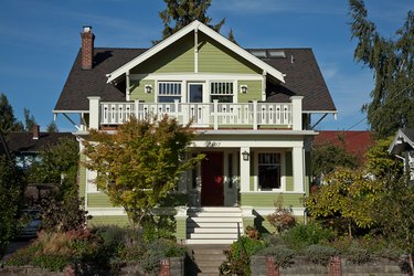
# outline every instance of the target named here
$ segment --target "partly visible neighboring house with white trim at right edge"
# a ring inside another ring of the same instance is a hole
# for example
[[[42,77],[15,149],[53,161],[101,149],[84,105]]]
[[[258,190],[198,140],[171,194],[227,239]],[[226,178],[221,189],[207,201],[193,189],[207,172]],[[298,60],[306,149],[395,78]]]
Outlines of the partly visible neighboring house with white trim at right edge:
[[[399,129],[390,145],[389,153],[404,161],[404,168],[414,181],[414,129]]]

